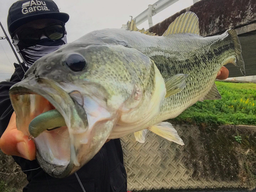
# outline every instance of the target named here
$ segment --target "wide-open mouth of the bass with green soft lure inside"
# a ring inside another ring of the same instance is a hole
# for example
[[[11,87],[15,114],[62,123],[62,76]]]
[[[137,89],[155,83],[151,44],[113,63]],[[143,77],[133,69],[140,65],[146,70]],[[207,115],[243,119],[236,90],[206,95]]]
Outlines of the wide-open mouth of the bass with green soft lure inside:
[[[77,160],[79,146],[75,146],[72,139],[75,134],[86,132],[88,124],[80,118],[83,110],[77,109],[79,106],[68,93],[49,80],[40,79],[39,84],[40,81],[44,83],[39,87],[37,79],[21,81],[10,90],[17,129],[35,137],[37,161],[45,172],[62,178],[77,170],[75,166],[80,166]],[[84,111],[82,115],[86,116]]]

